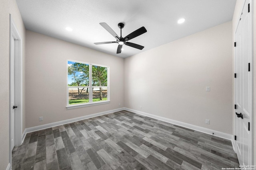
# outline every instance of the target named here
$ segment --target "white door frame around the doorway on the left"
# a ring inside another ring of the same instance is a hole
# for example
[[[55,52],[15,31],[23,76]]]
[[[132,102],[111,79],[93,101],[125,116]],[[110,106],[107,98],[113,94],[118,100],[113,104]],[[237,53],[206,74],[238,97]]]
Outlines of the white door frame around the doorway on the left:
[[[12,16],[10,14],[9,16],[9,76],[11,76],[11,38],[14,37],[14,67],[16,68],[16,71],[14,72],[14,78],[15,78],[15,104],[17,109],[15,110],[14,113],[14,146],[19,146],[22,143],[22,84],[21,84],[21,78],[22,78],[22,73],[21,73],[21,68],[22,68],[22,39],[20,37],[20,34],[18,33],[18,29],[12,20]],[[11,77],[9,78],[9,89],[11,90]],[[10,166],[12,166],[12,149],[11,149],[11,130],[12,130],[12,125],[11,125],[11,109],[13,106],[11,106],[11,92],[9,90],[9,162]]]

